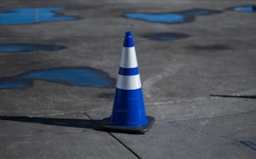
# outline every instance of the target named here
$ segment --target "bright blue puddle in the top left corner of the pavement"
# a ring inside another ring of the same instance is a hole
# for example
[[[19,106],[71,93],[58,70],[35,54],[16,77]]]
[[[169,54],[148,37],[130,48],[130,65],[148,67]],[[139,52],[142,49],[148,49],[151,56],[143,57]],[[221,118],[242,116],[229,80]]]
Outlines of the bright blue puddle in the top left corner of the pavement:
[[[5,10],[0,13],[0,25],[31,24],[38,22],[70,21],[79,19],[75,16],[64,16],[56,11],[64,7],[24,7]]]

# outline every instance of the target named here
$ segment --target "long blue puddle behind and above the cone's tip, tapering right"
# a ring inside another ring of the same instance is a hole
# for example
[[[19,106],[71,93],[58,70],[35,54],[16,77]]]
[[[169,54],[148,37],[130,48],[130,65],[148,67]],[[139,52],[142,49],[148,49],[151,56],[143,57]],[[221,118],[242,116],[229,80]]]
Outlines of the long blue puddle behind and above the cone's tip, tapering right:
[[[207,9],[191,9],[182,12],[167,12],[167,13],[147,13],[147,12],[130,12],[125,13],[124,17],[143,20],[147,22],[162,22],[162,23],[182,23],[192,22],[195,16],[205,16],[220,11],[207,10]]]

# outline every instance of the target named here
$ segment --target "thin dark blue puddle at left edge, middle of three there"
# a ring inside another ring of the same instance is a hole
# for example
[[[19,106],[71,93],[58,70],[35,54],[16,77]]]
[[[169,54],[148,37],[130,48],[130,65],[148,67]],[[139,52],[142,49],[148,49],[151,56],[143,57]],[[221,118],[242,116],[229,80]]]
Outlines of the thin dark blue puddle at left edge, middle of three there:
[[[32,52],[32,51],[54,51],[64,49],[59,45],[43,45],[43,44],[2,44],[0,52]]]

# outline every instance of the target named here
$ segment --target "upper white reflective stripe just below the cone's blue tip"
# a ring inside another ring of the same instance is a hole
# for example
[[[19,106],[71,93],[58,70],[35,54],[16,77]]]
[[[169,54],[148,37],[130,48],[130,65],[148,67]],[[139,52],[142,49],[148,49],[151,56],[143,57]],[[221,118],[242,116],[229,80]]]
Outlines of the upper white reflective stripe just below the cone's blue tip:
[[[123,47],[120,59],[120,67],[138,67],[135,47]]]

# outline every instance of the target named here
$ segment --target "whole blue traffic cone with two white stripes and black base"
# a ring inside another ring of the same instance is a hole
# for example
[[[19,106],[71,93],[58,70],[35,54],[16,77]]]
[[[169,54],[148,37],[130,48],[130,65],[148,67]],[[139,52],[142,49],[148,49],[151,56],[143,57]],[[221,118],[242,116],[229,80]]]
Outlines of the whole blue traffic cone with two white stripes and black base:
[[[125,133],[145,133],[155,121],[154,117],[146,117],[141,78],[131,32],[125,32],[112,115],[103,121],[103,130]]]

